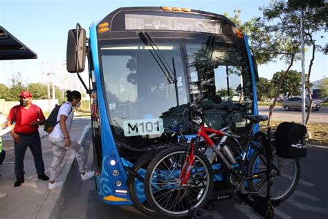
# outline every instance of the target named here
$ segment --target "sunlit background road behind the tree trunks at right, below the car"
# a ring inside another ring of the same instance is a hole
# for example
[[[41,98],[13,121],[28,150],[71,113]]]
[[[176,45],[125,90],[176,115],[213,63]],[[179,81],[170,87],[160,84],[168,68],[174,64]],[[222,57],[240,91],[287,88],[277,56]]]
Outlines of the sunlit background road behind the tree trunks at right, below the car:
[[[268,106],[259,106],[259,114],[268,115]],[[273,109],[273,121],[302,122],[302,111],[284,110],[281,106]],[[318,111],[312,111],[310,123],[328,123],[328,107],[321,107]]]

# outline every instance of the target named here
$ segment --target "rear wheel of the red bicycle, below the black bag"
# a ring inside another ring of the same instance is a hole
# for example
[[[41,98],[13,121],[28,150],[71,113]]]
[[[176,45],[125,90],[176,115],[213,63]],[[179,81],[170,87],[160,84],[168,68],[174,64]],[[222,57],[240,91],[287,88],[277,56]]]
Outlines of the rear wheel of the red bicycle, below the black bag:
[[[267,160],[264,154],[256,151],[250,159],[248,177],[259,177],[248,180],[250,190],[266,196],[268,182],[266,180]],[[298,159],[277,157],[273,152],[271,161],[271,200],[284,201],[295,191],[300,179],[300,163]]]

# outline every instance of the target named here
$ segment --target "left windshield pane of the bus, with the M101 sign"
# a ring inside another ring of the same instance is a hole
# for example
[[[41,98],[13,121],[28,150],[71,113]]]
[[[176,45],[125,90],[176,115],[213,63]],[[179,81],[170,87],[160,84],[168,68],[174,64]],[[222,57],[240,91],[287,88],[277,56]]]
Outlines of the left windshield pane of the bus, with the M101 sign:
[[[156,44],[171,69],[174,62],[176,85],[167,81],[151,48],[142,42],[104,44],[100,49],[114,136],[136,148],[170,141],[173,131],[167,125],[178,122],[184,109],[180,106],[188,100],[179,43]]]

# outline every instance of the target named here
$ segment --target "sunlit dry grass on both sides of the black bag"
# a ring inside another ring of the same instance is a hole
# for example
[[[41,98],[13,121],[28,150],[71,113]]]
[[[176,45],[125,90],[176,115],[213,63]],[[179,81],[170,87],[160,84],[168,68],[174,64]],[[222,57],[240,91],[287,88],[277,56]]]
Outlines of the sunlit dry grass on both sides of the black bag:
[[[272,121],[273,130],[282,121]],[[266,121],[259,123],[260,129],[266,131]],[[307,131],[311,133],[312,137],[308,140],[309,143],[328,146],[328,124],[325,123],[309,123]]]

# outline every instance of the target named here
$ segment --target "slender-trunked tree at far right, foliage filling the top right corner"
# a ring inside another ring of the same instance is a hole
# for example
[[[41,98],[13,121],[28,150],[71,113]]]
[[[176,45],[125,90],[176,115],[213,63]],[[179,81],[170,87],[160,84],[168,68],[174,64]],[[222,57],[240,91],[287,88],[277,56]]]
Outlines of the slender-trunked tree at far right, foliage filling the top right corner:
[[[285,33],[289,37],[301,41],[300,37],[300,17],[303,17],[304,43],[311,49],[311,60],[307,71],[306,88],[310,97],[310,107],[313,100],[310,90],[311,69],[315,59],[316,51],[325,53],[327,45],[317,44],[313,36],[322,33],[326,28],[328,3],[325,0],[289,0],[272,1],[267,8],[261,8],[264,17],[268,20],[275,19],[278,23],[275,25],[275,32]],[[323,35],[321,37],[324,37]],[[307,112],[306,125],[309,122],[311,110]]]

